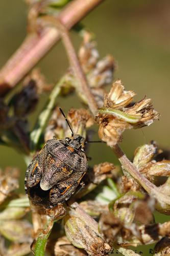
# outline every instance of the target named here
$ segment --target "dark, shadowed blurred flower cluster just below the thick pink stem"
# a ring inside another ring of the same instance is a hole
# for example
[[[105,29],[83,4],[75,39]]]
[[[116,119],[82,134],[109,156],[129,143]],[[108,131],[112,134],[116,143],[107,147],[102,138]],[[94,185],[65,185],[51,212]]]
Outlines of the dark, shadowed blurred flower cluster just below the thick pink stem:
[[[4,144],[30,154],[28,117],[34,112],[42,92],[51,88],[36,69],[25,78],[21,90],[15,92],[8,103],[0,99],[0,137]]]

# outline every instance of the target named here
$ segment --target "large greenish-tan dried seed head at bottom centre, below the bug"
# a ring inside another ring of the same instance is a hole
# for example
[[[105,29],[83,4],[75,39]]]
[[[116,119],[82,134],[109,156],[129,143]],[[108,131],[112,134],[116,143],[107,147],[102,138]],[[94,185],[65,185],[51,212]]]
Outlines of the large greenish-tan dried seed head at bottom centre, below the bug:
[[[98,223],[88,216],[81,207],[69,210],[64,218],[64,228],[68,240],[76,247],[86,250],[90,255],[107,255],[111,251],[98,231]]]

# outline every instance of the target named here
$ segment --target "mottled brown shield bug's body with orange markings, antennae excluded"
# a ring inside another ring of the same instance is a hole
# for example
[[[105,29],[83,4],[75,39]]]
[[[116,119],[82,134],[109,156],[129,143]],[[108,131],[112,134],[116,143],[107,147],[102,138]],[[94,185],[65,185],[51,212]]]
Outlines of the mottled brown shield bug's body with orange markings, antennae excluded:
[[[26,172],[25,189],[33,204],[55,206],[75,193],[88,169],[84,142],[80,135],[46,142]]]

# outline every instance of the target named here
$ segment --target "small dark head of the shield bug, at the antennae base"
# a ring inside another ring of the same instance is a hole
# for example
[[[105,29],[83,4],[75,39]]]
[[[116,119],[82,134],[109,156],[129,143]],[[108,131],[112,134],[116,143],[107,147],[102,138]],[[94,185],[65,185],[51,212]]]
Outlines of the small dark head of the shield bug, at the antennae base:
[[[85,146],[86,140],[81,135],[75,134],[71,138],[65,138],[65,140],[71,147],[84,152],[84,146]]]

